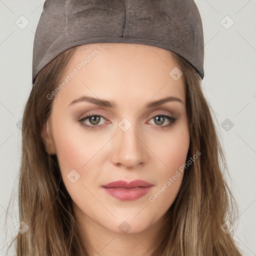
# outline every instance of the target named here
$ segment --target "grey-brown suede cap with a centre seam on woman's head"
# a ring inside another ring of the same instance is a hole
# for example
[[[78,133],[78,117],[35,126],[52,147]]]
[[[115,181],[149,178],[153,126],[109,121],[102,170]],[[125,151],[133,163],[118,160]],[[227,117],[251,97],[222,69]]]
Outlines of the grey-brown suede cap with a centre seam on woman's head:
[[[61,52],[94,42],[161,47],[204,77],[203,27],[193,0],[46,0],[33,41],[32,83]]]

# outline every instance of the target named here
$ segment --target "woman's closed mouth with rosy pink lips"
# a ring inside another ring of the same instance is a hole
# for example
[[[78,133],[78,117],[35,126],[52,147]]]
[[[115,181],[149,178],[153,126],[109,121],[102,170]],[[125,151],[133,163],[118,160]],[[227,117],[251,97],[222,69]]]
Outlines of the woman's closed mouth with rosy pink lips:
[[[138,199],[147,194],[152,187],[152,184],[138,179],[131,182],[117,180],[102,186],[109,195],[123,201]]]

